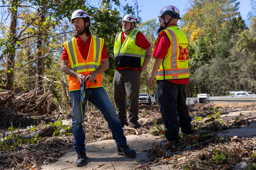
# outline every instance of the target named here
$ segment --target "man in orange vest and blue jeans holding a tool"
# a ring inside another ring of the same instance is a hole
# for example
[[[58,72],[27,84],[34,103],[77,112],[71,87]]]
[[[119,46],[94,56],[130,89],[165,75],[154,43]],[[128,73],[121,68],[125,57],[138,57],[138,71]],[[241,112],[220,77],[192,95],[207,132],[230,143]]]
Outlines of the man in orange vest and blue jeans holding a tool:
[[[73,24],[76,35],[64,43],[61,70],[68,75],[72,134],[74,149],[78,154],[77,167],[84,166],[88,160],[82,125],[86,104],[80,102],[82,81],[86,81],[86,87],[83,87],[86,88],[85,100],[90,101],[104,115],[117,145],[118,155],[133,156],[136,152],[127,145],[118,115],[101,84],[101,73],[109,68],[104,40],[91,35],[91,19],[86,11],[82,9],[74,11],[70,23]]]

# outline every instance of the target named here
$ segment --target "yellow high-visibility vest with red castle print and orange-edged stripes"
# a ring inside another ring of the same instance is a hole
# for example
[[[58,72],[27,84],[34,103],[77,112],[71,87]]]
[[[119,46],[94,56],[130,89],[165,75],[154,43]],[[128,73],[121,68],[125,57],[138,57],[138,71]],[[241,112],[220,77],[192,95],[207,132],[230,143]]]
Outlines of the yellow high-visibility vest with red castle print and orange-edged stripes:
[[[155,73],[156,80],[175,80],[189,78],[188,70],[188,38],[177,25],[171,25],[161,31],[170,40],[170,47],[162,64]],[[158,35],[158,37],[159,37]],[[156,38],[153,49],[155,48]]]

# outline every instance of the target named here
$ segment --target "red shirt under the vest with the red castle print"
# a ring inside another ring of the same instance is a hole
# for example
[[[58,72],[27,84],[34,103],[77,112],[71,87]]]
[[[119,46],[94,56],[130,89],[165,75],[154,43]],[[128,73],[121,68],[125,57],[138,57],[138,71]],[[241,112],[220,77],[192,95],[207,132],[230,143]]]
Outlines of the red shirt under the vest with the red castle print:
[[[177,24],[171,24],[171,25],[177,25]],[[167,27],[169,27],[168,25]],[[165,27],[165,29],[167,28]],[[167,55],[167,50],[170,47],[170,40],[166,34],[161,34],[158,37],[158,40],[155,45],[155,49],[153,51],[152,57],[158,57],[161,59],[164,59],[164,57]],[[188,84],[189,78],[187,79],[177,79],[177,80],[168,80],[174,84]]]

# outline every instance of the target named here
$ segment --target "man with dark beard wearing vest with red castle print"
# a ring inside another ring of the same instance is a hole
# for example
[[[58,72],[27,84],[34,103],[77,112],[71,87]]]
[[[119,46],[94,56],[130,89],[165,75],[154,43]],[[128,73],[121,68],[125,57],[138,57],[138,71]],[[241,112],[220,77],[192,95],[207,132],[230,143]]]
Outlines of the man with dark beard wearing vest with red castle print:
[[[175,6],[164,7],[158,16],[160,28],[152,56],[153,67],[149,84],[157,82],[157,100],[166,127],[166,139],[160,146],[179,142],[179,129],[190,135],[193,133],[191,117],[186,104],[186,87],[189,81],[188,38],[177,26],[180,18]]]

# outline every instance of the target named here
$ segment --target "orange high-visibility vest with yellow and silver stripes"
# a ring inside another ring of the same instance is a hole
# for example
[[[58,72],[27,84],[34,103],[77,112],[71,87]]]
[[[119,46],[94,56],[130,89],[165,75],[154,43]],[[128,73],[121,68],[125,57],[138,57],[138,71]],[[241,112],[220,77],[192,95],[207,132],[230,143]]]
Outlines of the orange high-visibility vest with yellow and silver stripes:
[[[90,49],[87,59],[84,60],[77,45],[77,39],[75,37],[64,43],[64,46],[68,52],[68,65],[78,74],[84,74],[85,76],[91,74],[97,70],[101,65],[101,51],[103,48],[104,40],[92,35]],[[102,87],[101,80],[102,75],[98,74],[95,78],[97,83],[86,81],[86,88]],[[81,84],[78,79],[68,75],[69,91],[80,90]]]

